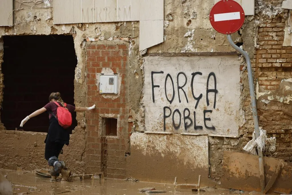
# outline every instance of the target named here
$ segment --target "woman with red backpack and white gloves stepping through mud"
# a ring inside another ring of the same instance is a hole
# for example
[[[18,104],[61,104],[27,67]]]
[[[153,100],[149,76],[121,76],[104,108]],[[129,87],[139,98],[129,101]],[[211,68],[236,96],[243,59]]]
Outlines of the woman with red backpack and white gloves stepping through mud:
[[[65,168],[65,163],[59,161],[58,156],[63,146],[65,144],[69,145],[69,131],[67,128],[72,124],[71,113],[84,112],[94,108],[95,105],[91,107],[74,107],[73,105],[66,104],[62,100],[59,92],[53,92],[49,96],[48,104],[41,109],[34,111],[21,121],[20,126],[22,127],[32,117],[46,111],[49,113],[50,126],[45,139],[45,158],[48,160],[48,165],[54,167],[54,169],[50,171],[52,176],[58,177],[62,168]]]

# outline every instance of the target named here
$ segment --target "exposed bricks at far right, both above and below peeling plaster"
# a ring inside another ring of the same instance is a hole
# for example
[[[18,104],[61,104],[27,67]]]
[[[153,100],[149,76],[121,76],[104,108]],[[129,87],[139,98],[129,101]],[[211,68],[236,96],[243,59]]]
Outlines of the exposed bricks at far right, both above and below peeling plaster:
[[[292,77],[292,47],[283,46],[285,21],[277,15],[273,19],[266,19],[258,28],[259,48],[256,50],[252,66],[255,70],[255,79],[270,95],[285,97],[286,90],[280,89],[280,83],[285,78]],[[287,95],[287,94],[286,94]],[[246,106],[250,99],[246,98]],[[279,101],[268,104],[258,101],[259,124],[267,131],[268,137],[277,138],[277,149],[274,157],[292,161],[292,114],[291,106]],[[249,135],[253,131],[252,115],[246,117]]]

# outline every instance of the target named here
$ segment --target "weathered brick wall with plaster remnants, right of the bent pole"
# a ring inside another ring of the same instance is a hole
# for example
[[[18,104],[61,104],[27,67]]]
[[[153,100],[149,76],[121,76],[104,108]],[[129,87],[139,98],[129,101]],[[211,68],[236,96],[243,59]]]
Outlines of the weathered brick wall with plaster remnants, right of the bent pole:
[[[292,47],[286,32],[291,11],[281,7],[282,1],[257,1],[253,67],[259,124],[268,137],[277,138],[276,151],[267,154],[291,162]]]

